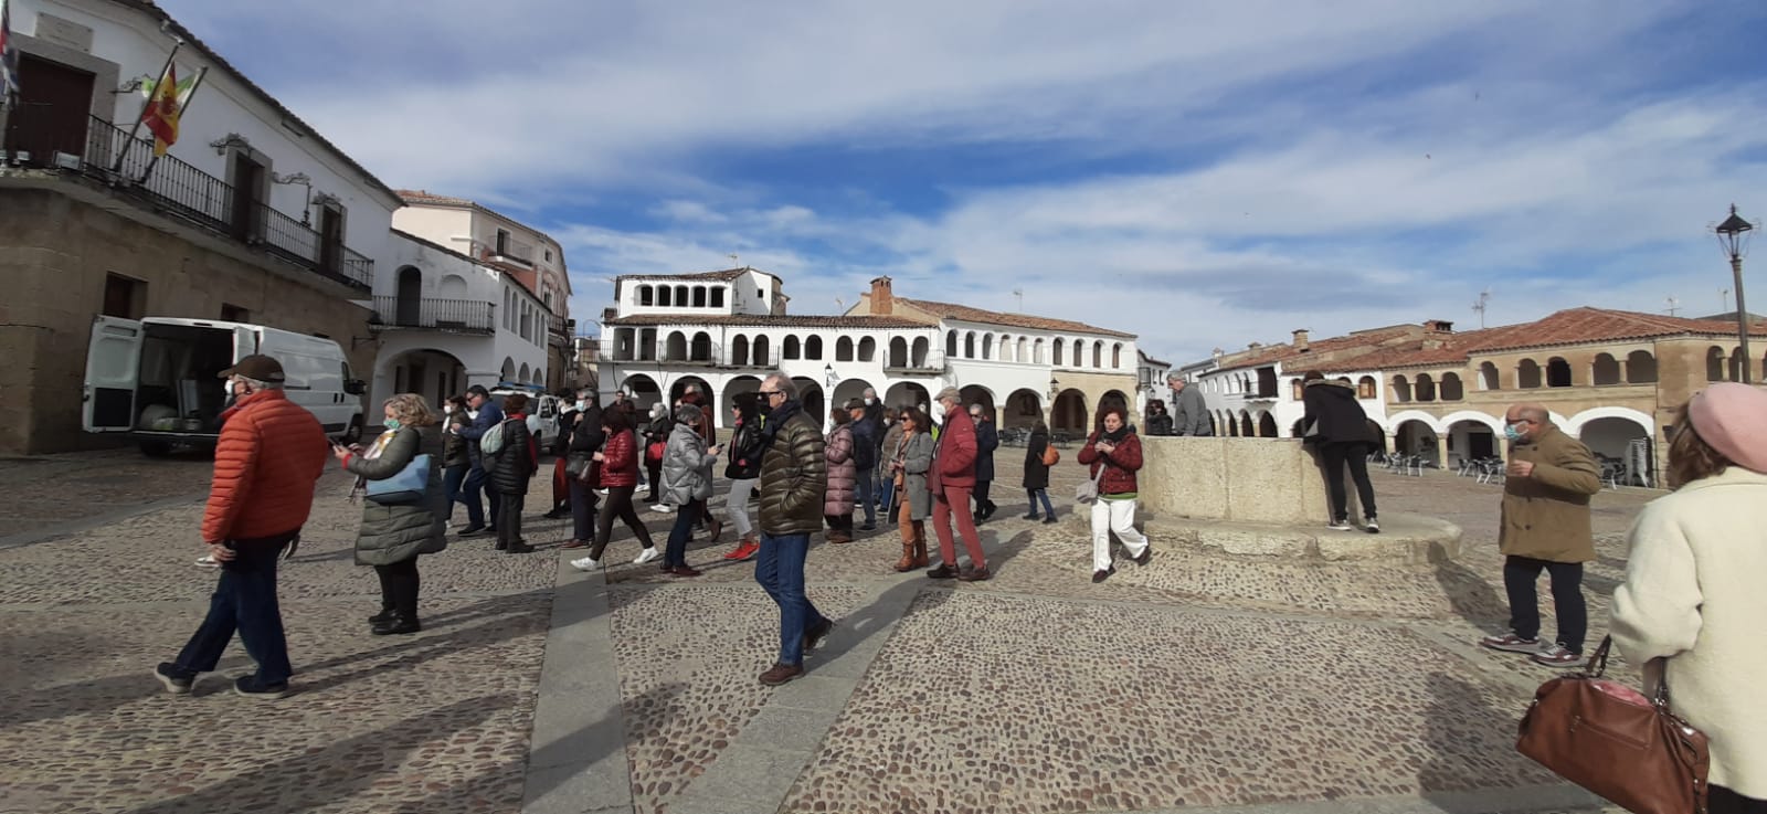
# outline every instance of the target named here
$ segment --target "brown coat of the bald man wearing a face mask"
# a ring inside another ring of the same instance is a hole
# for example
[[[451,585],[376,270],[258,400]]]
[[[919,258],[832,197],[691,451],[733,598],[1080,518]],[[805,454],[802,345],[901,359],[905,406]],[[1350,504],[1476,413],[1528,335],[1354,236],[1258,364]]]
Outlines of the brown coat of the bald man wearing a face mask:
[[[1601,491],[1601,468],[1583,441],[1548,424],[1509,448],[1511,461],[1530,461],[1534,475],[1504,480],[1504,521],[1497,547],[1505,556],[1555,563],[1596,558],[1589,530],[1589,496]]]

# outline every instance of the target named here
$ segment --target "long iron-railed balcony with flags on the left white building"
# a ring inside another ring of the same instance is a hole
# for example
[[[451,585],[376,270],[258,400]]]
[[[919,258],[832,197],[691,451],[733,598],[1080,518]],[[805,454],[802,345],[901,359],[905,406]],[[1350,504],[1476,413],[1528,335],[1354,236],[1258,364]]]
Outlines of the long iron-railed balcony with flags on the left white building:
[[[152,141],[99,117],[88,117],[83,134],[32,129],[21,122],[7,143],[14,166],[76,171],[164,215],[263,249],[322,277],[364,291],[373,286],[373,260],[337,240],[327,242],[320,231],[269,203],[237,200],[224,180],[180,159],[155,157]]]

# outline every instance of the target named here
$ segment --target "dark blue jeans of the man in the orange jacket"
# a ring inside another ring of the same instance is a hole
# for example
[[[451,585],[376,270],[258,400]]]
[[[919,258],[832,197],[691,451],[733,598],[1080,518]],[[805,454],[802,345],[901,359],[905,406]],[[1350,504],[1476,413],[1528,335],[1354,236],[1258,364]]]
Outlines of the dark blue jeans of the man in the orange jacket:
[[[258,682],[288,682],[295,669],[288,666],[283,609],[276,602],[276,560],[299,533],[231,540],[239,556],[221,563],[221,577],[209,597],[209,616],[173,662],[178,671],[214,673],[233,632],[239,632],[246,655],[258,662]]]

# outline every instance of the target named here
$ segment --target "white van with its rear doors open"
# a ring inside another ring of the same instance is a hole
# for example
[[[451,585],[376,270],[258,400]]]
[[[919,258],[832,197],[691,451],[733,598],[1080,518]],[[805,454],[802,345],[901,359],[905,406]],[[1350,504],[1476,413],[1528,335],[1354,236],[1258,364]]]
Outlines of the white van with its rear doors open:
[[[173,445],[214,447],[221,438],[233,362],[263,353],[283,364],[288,399],[313,411],[325,433],[362,438],[368,383],[330,339],[217,320],[95,316],[87,346],[83,418],[87,433],[127,433],[141,452]]]

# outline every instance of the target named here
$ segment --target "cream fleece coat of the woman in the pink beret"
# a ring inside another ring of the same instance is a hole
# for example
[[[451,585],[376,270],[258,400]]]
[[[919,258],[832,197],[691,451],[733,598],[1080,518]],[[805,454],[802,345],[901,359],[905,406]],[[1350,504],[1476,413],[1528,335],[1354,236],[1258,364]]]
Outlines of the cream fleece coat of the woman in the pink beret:
[[[1767,798],[1767,475],[1732,466],[1650,501],[1613,592],[1613,643],[1668,659],[1670,706],[1710,738],[1710,782]],[[1654,687],[1650,687],[1654,689]]]

